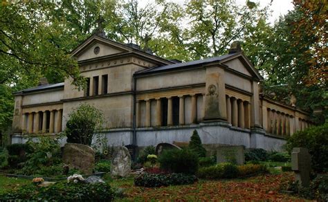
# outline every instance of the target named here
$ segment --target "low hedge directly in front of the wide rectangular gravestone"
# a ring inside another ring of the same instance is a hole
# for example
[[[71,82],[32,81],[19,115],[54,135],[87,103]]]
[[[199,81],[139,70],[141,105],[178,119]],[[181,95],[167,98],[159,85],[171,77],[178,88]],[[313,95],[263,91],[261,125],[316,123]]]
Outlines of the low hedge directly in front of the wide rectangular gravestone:
[[[210,167],[201,167],[197,176],[209,179],[237,178],[266,172],[268,172],[266,165],[219,163]]]

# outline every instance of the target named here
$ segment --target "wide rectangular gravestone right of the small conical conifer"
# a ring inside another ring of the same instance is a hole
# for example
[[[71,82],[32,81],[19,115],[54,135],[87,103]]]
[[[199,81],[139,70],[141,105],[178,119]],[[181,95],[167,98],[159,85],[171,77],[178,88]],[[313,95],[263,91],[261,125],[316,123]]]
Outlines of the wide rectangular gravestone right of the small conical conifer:
[[[222,146],[217,147],[217,163],[235,163],[244,165],[244,146]]]

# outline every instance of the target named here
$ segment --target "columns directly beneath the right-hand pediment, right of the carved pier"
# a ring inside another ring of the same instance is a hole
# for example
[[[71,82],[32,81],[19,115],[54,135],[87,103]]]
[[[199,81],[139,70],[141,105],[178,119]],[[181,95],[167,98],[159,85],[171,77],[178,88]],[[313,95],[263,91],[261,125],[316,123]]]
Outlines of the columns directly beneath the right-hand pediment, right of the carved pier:
[[[250,102],[226,95],[227,120],[234,127],[250,128]]]

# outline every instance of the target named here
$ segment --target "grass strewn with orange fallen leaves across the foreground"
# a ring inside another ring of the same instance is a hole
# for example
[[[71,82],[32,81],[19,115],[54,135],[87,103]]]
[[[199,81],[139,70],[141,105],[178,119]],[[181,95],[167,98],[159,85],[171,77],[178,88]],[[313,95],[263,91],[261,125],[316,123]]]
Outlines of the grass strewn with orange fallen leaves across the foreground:
[[[125,188],[124,199],[116,201],[208,201],[208,200],[302,200],[279,192],[280,184],[293,178],[291,172],[268,174],[247,179],[199,181],[194,185],[146,188],[135,187],[133,178],[113,181],[113,187]]]

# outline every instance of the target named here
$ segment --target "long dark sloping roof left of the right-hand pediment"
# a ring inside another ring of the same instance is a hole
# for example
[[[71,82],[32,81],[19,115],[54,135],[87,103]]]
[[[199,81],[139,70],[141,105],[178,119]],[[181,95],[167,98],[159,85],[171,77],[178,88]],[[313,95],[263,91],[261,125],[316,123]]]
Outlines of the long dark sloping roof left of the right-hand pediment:
[[[226,59],[228,57],[231,57],[231,56],[237,55],[237,54],[238,53],[232,53],[232,54],[227,54],[227,55],[221,55],[219,57],[210,57],[210,58],[199,59],[199,60],[194,60],[194,61],[190,61],[190,62],[181,62],[181,63],[169,64],[169,65],[164,65],[164,66],[155,66],[153,68],[148,68],[143,71],[138,71],[135,74],[143,75],[143,74],[155,73],[155,72],[161,72],[161,71],[170,71],[173,69],[184,68],[187,66],[199,66],[200,64],[208,64],[210,62],[220,62],[222,59]]]

